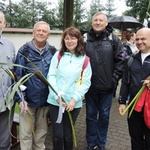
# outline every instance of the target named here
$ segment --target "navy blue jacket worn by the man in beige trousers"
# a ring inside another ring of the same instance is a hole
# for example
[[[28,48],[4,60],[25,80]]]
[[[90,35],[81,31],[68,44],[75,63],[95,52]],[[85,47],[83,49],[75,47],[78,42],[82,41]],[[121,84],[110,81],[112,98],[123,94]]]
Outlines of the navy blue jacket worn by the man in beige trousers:
[[[55,52],[56,49],[48,43],[46,43],[44,50],[41,52],[35,48],[33,41],[23,45],[18,51],[16,64],[21,64],[29,70],[22,67],[15,67],[18,80],[24,75],[36,71],[36,69],[22,55],[26,56],[34,65],[36,65],[36,67],[46,77],[52,56]],[[39,80],[36,76],[32,76],[25,82],[24,85],[27,87],[24,92],[24,96],[29,106],[38,108],[48,105],[48,87],[41,80]],[[21,99],[17,96],[16,101],[20,102]]]

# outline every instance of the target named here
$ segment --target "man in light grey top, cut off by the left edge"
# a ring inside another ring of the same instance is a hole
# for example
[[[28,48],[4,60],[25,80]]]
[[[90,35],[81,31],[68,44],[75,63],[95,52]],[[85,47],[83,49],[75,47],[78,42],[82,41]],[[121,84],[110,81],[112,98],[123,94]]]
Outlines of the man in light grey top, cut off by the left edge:
[[[0,11],[0,62],[14,63],[15,62],[15,47],[13,43],[2,37],[3,28],[6,25],[3,12]],[[8,105],[8,97],[4,101],[4,97],[8,88],[12,85],[11,78],[3,71],[3,69],[13,69],[10,66],[0,65],[0,150],[10,150],[10,127],[13,121],[14,107],[12,103]],[[10,93],[11,91],[9,91]],[[11,111],[10,111],[11,109]],[[9,122],[9,113],[11,118]]]

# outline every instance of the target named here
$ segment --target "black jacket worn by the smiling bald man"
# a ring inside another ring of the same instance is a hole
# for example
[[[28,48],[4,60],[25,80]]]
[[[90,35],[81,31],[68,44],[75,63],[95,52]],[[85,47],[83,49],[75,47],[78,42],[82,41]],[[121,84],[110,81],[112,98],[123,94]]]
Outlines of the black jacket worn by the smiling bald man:
[[[120,89],[119,104],[126,104],[128,95],[130,95],[131,101],[142,87],[142,81],[145,80],[149,75],[150,56],[147,56],[144,63],[142,64],[141,53],[139,52],[134,56],[133,62],[130,67],[128,67],[127,64],[125,64],[122,85]],[[128,76],[130,79],[129,83],[127,82]]]

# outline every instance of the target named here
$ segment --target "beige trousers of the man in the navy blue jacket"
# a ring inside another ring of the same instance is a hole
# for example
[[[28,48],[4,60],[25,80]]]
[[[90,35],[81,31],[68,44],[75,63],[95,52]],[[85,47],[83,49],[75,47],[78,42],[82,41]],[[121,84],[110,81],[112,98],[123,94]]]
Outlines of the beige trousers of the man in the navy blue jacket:
[[[29,113],[19,115],[21,150],[45,150],[44,142],[48,130],[48,112],[49,106],[38,109],[29,107]]]

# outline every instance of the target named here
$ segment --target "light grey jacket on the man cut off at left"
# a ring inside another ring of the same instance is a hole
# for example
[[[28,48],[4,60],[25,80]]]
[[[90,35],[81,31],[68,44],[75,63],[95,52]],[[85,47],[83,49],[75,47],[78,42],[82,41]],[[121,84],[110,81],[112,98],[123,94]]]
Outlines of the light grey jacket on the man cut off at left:
[[[0,37],[0,62],[2,63],[14,63],[15,62],[15,47],[13,43],[7,38]],[[12,66],[6,66],[0,64],[0,112],[6,110],[6,104],[8,101],[9,94],[11,92],[12,79],[9,75],[2,69],[13,69]],[[6,99],[4,101],[4,95],[7,90],[9,90]],[[9,103],[8,108],[14,104],[14,102]]]

